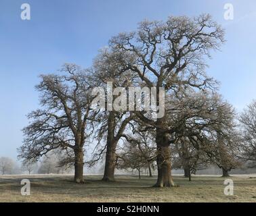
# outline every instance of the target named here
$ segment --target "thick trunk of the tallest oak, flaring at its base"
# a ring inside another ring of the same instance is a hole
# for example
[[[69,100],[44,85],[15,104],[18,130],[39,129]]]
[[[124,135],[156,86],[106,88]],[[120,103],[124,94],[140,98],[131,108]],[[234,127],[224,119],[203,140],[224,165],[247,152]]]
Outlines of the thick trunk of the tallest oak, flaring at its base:
[[[171,149],[167,134],[156,130],[156,145],[157,145],[157,169],[158,177],[155,187],[171,187],[174,186],[171,177]]]

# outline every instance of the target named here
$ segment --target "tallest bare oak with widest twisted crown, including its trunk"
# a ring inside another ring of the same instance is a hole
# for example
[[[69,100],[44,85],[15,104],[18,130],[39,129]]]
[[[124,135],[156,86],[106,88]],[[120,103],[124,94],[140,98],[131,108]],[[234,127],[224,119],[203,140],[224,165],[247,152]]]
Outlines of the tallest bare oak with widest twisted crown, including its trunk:
[[[136,72],[148,87],[165,88],[173,94],[186,86],[201,90],[211,87],[213,80],[205,74],[204,57],[223,43],[223,29],[202,15],[170,17],[166,22],[141,22],[137,31],[121,33],[110,40],[113,51],[131,55],[125,68]],[[156,102],[159,104],[159,91]],[[138,113],[145,124],[156,128],[158,180],[157,187],[172,186],[170,131],[165,127],[165,116],[150,119]]]

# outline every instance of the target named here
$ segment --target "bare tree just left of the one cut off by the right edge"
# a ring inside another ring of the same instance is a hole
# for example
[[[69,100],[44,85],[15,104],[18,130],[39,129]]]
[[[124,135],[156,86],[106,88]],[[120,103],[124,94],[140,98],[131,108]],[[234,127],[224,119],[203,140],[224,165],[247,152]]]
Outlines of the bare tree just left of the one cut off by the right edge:
[[[207,154],[211,163],[223,171],[223,177],[228,176],[228,171],[240,166],[238,160],[238,146],[240,136],[236,130],[235,111],[232,105],[223,101],[217,94],[213,100],[211,121],[200,128],[197,136],[200,148]]]

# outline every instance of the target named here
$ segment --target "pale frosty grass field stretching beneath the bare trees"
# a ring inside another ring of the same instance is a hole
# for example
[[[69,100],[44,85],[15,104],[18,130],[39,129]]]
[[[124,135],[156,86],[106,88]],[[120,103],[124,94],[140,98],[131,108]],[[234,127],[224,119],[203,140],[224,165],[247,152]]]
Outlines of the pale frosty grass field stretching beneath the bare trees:
[[[31,182],[30,196],[20,194],[21,180]],[[234,196],[223,194],[226,178],[196,175],[192,182],[174,176],[173,188],[152,188],[156,178],[141,180],[120,175],[102,182],[101,175],[86,175],[86,184],[74,184],[72,175],[0,176],[0,202],[256,202],[256,175],[232,175]]]

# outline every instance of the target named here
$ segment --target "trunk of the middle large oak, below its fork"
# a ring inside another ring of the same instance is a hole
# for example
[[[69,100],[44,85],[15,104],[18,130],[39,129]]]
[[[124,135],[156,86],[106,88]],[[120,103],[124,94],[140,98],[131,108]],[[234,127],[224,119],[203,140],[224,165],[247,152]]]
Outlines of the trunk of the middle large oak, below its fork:
[[[107,142],[106,161],[103,179],[106,182],[114,181],[114,169],[116,167],[116,143],[109,140]]]

